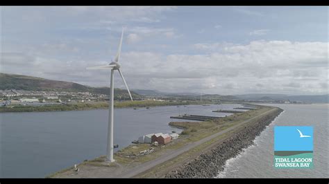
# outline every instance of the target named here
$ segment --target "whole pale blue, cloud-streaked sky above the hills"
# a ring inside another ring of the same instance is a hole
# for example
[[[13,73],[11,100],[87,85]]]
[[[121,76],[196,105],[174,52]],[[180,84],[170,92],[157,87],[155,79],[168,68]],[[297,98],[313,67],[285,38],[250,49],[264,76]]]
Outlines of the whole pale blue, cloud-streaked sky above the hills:
[[[130,89],[328,93],[328,7],[1,7],[1,73]],[[115,87],[124,82],[115,73]]]

